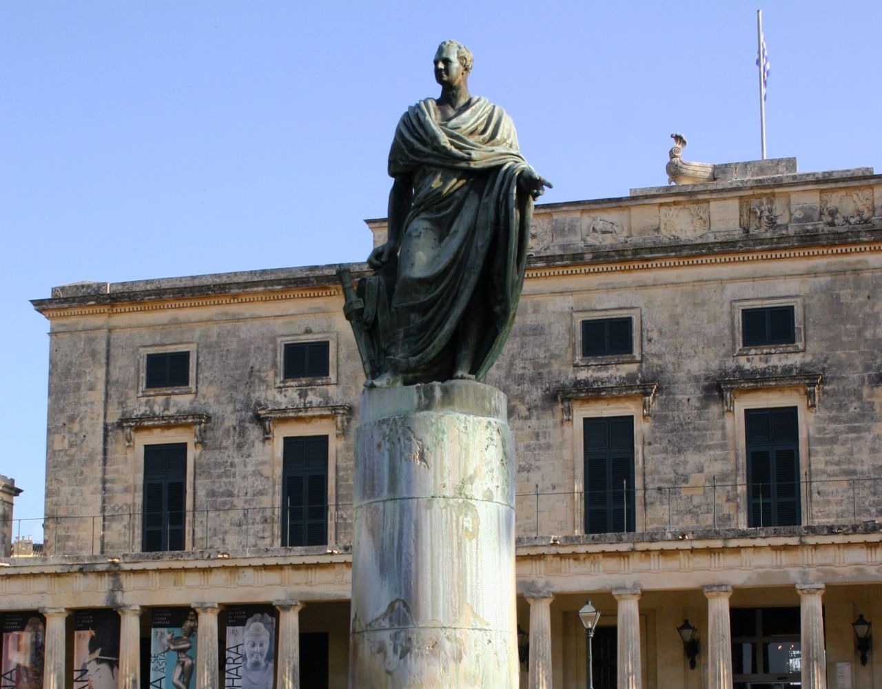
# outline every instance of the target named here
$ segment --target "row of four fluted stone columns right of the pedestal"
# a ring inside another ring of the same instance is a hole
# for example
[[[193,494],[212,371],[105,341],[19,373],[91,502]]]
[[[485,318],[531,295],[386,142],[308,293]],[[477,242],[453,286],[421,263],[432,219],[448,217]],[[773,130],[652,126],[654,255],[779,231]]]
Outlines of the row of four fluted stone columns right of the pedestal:
[[[706,586],[707,689],[732,689],[732,637],[729,626],[729,585]],[[797,584],[801,610],[802,685],[826,689],[823,584]],[[641,689],[639,588],[611,591],[617,601],[617,689]],[[553,595],[526,596],[530,604],[529,689],[551,687],[551,623]]]

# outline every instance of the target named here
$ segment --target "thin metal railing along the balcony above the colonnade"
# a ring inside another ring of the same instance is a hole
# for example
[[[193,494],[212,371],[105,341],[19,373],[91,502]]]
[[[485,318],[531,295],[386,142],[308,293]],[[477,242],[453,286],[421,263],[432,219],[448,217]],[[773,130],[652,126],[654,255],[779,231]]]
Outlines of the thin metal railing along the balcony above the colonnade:
[[[338,503],[187,511],[183,513],[183,549],[247,552],[306,544],[308,536],[305,540],[292,536],[291,524],[300,522],[285,519],[287,509],[291,517],[297,516],[297,509],[324,512],[325,523],[319,526],[325,526],[323,544],[330,550],[345,549],[352,543],[352,505]],[[519,536],[860,524],[882,520],[882,477],[810,480],[806,476],[798,484],[722,483],[713,478],[709,483],[636,490],[624,483],[619,490],[587,493],[540,491],[536,484],[534,491],[515,496],[515,514]],[[12,535],[38,532],[42,526],[42,554],[49,556],[143,552],[145,516],[117,512],[19,519],[13,520]],[[166,513],[164,528],[170,528],[172,521]],[[322,540],[320,535],[318,540]],[[311,540],[317,542],[316,538]],[[168,543],[167,534],[159,550],[168,548]]]

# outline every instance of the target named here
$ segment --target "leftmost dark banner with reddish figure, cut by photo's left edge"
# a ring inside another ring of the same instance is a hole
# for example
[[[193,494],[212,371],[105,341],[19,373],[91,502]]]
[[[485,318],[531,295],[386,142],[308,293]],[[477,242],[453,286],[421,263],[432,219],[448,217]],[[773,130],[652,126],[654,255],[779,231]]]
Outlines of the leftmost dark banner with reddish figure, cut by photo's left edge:
[[[3,616],[0,689],[42,689],[46,621],[37,611]]]

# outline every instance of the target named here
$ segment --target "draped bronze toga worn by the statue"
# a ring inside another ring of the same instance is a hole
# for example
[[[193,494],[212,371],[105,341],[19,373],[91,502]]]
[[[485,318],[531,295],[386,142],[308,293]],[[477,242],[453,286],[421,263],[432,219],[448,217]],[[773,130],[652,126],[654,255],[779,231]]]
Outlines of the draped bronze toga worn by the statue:
[[[457,333],[480,318],[472,369],[482,378],[512,327],[527,262],[533,199],[511,117],[482,97],[441,121],[433,99],[407,109],[389,175],[412,176],[386,363],[406,383],[451,378]]]

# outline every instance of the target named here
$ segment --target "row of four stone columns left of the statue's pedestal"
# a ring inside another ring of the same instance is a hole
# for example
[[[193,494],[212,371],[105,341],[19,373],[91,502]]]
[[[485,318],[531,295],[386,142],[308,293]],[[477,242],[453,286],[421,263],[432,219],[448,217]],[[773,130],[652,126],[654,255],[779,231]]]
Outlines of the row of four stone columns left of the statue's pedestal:
[[[277,689],[298,689],[300,686],[300,609],[299,601],[273,603],[279,610],[279,653],[276,655]],[[192,606],[198,614],[199,642],[196,647],[195,680],[198,687],[220,686],[218,677],[218,614],[217,603]],[[116,609],[120,616],[119,678],[121,689],[138,689],[140,669],[141,607],[126,605]],[[46,650],[43,660],[43,689],[64,689],[67,671],[64,663],[65,622],[71,610],[44,608],[46,618]],[[145,683],[146,685],[146,683]]]

